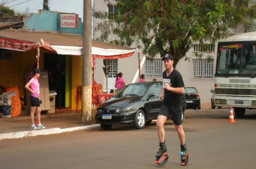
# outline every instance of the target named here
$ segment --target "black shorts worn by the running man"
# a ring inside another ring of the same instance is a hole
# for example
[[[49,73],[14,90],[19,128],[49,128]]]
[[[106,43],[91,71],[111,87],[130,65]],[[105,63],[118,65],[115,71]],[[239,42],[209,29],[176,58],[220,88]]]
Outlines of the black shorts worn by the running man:
[[[158,115],[164,115],[166,117],[172,117],[175,125],[181,125],[183,122],[183,107],[169,108],[164,103],[160,107],[160,112]]]

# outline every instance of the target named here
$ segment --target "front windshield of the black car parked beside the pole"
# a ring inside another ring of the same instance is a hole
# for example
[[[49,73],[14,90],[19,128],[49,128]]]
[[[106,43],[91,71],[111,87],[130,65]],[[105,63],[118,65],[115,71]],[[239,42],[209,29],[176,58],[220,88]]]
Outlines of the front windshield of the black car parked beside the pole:
[[[150,84],[144,83],[136,83],[136,84],[129,84],[120,90],[114,97],[140,97],[145,95]]]

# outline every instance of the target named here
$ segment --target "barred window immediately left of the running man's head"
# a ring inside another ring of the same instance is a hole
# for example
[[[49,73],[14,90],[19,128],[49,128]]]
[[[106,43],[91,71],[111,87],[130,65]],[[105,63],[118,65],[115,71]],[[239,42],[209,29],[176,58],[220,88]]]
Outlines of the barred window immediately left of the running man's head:
[[[163,62],[162,59],[146,60],[145,75],[147,77],[162,77]]]

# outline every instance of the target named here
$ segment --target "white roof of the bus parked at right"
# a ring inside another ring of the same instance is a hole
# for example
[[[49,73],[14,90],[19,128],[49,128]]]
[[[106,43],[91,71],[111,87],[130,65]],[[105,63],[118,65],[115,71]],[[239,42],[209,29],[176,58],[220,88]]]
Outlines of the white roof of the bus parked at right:
[[[220,39],[219,42],[238,42],[238,41],[256,41],[256,32],[247,32],[242,34],[235,34],[230,37]]]

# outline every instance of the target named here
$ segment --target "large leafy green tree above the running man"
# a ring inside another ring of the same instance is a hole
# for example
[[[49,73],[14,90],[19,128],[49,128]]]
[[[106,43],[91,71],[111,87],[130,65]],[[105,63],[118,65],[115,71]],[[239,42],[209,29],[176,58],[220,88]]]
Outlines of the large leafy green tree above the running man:
[[[115,5],[114,17],[96,27],[99,39],[109,41],[114,34],[114,44],[140,48],[142,43],[149,59],[170,53],[174,67],[192,42],[214,44],[239,24],[245,32],[255,29],[256,5],[250,0],[116,0]],[[96,11],[95,16],[104,19],[107,14]]]

